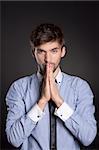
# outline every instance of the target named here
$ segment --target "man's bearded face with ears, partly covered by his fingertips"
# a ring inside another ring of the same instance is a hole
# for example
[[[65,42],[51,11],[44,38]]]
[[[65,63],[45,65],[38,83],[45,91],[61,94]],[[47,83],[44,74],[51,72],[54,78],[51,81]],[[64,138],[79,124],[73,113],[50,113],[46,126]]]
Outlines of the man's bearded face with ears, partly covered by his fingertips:
[[[62,48],[57,41],[48,42],[35,47],[34,56],[39,66],[40,72],[45,73],[46,64],[53,66],[53,72],[59,67],[62,57],[65,55],[65,48]]]

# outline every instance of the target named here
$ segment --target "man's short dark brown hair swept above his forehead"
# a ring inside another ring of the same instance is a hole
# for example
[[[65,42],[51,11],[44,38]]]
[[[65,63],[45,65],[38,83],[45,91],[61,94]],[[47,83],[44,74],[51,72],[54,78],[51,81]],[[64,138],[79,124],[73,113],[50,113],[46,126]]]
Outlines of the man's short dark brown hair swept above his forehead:
[[[30,43],[33,47],[40,46],[50,41],[58,41],[59,44],[64,44],[64,36],[61,29],[49,23],[40,24],[31,33]]]

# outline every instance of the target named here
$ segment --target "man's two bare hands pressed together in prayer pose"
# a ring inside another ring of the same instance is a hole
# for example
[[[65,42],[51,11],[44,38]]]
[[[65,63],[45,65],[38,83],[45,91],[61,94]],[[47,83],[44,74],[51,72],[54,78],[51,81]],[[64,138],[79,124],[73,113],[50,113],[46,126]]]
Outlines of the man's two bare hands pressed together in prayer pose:
[[[44,109],[46,103],[51,99],[55,102],[57,107],[60,107],[63,103],[55,83],[53,69],[54,66],[52,64],[46,65],[46,74],[44,76],[41,98],[38,102],[38,105],[42,110]]]

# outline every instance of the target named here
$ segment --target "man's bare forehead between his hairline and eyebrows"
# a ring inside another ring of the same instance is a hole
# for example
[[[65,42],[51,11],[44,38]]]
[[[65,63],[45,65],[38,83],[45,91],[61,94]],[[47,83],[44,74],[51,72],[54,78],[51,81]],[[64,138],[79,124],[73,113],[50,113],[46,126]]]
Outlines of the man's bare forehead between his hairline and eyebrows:
[[[60,48],[60,46],[61,45],[57,41],[54,41],[54,42],[44,43],[40,46],[37,46],[37,48],[47,51],[47,50],[51,50],[53,48]]]

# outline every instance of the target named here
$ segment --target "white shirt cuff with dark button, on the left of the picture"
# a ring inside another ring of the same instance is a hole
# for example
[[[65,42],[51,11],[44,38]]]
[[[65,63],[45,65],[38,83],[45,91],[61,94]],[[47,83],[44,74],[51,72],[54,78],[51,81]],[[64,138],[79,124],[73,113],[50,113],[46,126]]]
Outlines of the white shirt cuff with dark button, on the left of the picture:
[[[37,123],[45,113],[40,109],[40,107],[36,104],[34,107],[28,112],[28,117]]]

